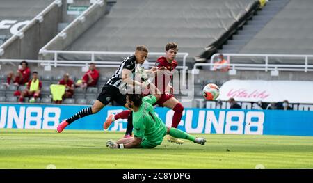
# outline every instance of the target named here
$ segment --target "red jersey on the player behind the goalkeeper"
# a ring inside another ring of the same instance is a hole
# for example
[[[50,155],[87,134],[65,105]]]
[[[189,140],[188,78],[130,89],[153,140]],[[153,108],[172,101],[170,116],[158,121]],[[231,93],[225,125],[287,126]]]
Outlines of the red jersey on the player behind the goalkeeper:
[[[174,60],[172,61],[172,63],[169,63],[168,61],[166,61],[166,57],[160,56],[157,59],[155,66],[159,68],[166,67],[165,72],[163,74],[159,74],[159,76],[156,76],[153,81],[154,85],[157,86],[157,88],[161,90],[162,93],[165,93],[168,83],[170,83],[170,80],[172,79],[171,71],[175,70],[175,68],[177,67],[177,61]],[[158,81],[160,86],[158,86]]]

